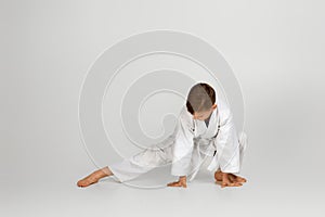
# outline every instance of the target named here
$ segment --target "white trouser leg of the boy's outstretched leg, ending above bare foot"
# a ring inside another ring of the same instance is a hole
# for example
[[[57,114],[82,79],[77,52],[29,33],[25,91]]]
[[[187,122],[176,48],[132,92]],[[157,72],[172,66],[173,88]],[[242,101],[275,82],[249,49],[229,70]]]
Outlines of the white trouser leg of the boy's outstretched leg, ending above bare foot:
[[[171,145],[165,148],[154,145],[129,158],[108,165],[108,168],[119,182],[123,182],[134,179],[156,167],[170,164],[171,159]]]

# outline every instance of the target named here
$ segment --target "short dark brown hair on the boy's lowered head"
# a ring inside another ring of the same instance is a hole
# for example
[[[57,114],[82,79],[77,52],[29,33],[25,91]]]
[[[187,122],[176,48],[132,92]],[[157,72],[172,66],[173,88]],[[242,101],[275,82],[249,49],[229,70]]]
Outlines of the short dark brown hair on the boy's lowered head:
[[[194,115],[194,112],[205,112],[216,102],[214,89],[206,82],[198,82],[188,92],[186,107]]]

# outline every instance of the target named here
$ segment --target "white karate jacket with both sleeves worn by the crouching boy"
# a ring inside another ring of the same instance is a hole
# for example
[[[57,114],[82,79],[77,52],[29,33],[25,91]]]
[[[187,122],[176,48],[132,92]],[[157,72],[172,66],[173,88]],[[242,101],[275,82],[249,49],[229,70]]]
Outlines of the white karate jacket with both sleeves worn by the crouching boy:
[[[208,127],[205,120],[193,119],[186,105],[183,105],[172,138],[171,175],[190,176],[191,181],[207,156],[213,156],[208,170],[220,168],[223,173],[239,173],[240,151],[245,146],[239,143],[233,114],[223,101],[217,103]],[[242,132],[240,138],[246,140],[246,135]]]

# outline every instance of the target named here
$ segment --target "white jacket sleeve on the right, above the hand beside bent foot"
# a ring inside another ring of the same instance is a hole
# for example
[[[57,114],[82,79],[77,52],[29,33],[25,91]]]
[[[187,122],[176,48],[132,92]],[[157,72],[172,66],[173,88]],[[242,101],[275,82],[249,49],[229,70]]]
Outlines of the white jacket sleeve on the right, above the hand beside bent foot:
[[[220,131],[214,140],[220,169],[223,173],[239,173],[239,142],[233,115],[226,110],[220,118]]]

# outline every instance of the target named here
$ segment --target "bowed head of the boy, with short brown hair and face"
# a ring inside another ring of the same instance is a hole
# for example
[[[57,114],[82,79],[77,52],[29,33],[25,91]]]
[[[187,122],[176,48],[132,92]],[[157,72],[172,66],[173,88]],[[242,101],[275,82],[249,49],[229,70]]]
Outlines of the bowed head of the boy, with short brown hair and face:
[[[194,119],[207,119],[217,107],[214,89],[205,82],[196,84],[188,92],[186,107]]]

